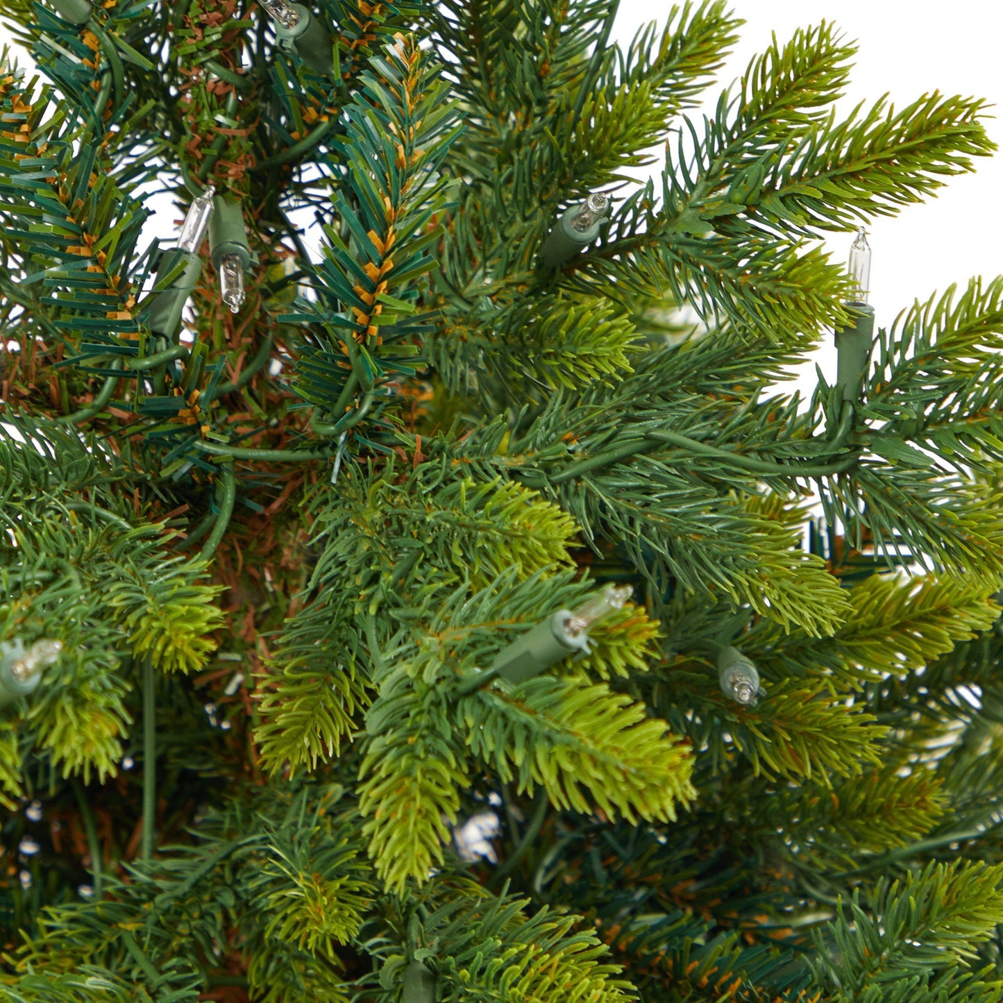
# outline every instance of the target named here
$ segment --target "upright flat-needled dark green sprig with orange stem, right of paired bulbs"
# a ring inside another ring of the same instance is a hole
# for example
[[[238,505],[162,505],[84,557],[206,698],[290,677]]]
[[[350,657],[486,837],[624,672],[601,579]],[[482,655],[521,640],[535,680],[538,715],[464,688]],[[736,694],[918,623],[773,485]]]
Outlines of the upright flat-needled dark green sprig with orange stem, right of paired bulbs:
[[[298,303],[298,312],[279,317],[324,325],[324,338],[303,347],[294,387],[332,412],[334,427],[353,401],[361,408],[362,393],[415,372],[419,360],[410,357],[423,330],[423,319],[412,317],[415,283],[434,267],[427,249],[446,205],[438,168],[457,133],[441,69],[413,41],[400,36],[369,63],[336,142],[350,169],[347,190],[335,197],[342,232],[325,226],[324,262],[301,263],[321,304]]]

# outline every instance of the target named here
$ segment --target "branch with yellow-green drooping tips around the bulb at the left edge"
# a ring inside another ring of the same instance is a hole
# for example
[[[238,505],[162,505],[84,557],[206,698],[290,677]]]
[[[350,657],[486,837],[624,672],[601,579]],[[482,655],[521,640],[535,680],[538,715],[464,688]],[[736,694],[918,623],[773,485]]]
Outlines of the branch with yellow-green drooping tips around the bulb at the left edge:
[[[25,725],[63,775],[115,775],[130,715],[119,658],[149,655],[192,671],[215,648],[222,614],[204,566],[172,557],[162,523],[131,526],[115,491],[125,479],[93,439],[6,416],[0,497],[7,536],[0,634],[55,637],[59,660],[32,694]],[[10,430],[19,434],[18,443]]]

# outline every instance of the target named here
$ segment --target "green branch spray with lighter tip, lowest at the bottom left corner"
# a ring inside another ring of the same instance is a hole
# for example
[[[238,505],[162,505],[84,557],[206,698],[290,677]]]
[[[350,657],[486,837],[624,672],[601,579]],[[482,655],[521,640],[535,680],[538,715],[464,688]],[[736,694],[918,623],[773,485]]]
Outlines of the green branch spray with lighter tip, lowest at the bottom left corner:
[[[354,812],[338,803],[342,792],[328,785],[278,795],[251,790],[211,809],[200,844],[130,865],[128,881],[108,876],[110,894],[101,902],[49,910],[18,952],[16,987],[32,989],[24,973],[33,972],[40,992],[62,988],[61,971],[76,968],[86,943],[88,960],[103,966],[94,970],[115,972],[129,1000],[195,1003],[226,971],[233,934],[249,956],[252,992],[275,1003],[312,992],[347,999],[328,938],[354,935],[372,887],[353,838]]]

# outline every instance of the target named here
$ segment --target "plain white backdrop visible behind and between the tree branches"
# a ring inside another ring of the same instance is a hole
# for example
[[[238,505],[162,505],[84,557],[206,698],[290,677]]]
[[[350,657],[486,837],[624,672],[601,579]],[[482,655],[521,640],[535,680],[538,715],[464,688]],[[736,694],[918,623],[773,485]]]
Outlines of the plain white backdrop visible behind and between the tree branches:
[[[746,23],[718,82],[707,90],[709,105],[721,86],[739,75],[749,59],[769,43],[771,32],[775,31],[782,42],[795,28],[821,20],[834,21],[848,39],[860,44],[852,86],[843,102],[846,110],[886,92],[898,106],[935,89],[991,102],[1003,93],[1003,5],[998,3],[734,0],[731,6]],[[642,24],[654,20],[661,25],[669,7],[667,3],[623,0],[613,40],[626,48]],[[9,40],[2,26],[0,40]],[[30,65],[25,54],[19,53],[21,59],[22,65]],[[995,112],[992,109],[991,113]],[[1003,143],[1001,122],[991,119],[987,125],[992,137]],[[977,166],[975,175],[949,180],[937,198],[907,207],[897,217],[879,218],[870,226],[874,249],[871,302],[879,324],[887,326],[914,299],[926,299],[951,283],[964,283],[978,274],[988,279],[1003,272],[1003,155],[980,158]],[[658,170],[658,164],[650,169]],[[146,236],[170,240],[178,214],[170,200],[161,205],[163,209],[149,221]],[[826,246],[843,261],[850,243],[850,235],[833,235]],[[833,365],[830,346],[822,346],[818,359],[829,371]],[[812,381],[805,373],[804,388],[809,390]]]

